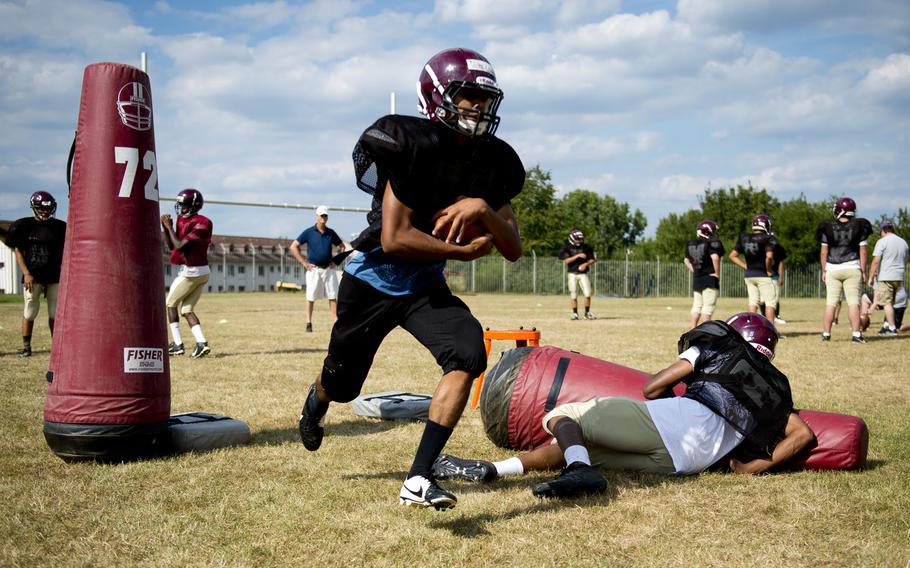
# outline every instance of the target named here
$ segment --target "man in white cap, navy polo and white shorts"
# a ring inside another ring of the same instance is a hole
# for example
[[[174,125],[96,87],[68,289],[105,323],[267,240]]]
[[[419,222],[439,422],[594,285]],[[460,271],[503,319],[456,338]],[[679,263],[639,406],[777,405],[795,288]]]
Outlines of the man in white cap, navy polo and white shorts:
[[[332,247],[344,251],[344,242],[338,233],[326,226],[329,220],[329,208],[320,205],[316,208],[316,224],[304,229],[291,243],[291,254],[297,262],[306,268],[306,330],[313,331],[313,305],[316,300],[328,298],[332,319],[336,316],[336,299],[338,298],[338,271],[332,262]],[[301,245],[306,244],[306,257],[300,252]]]

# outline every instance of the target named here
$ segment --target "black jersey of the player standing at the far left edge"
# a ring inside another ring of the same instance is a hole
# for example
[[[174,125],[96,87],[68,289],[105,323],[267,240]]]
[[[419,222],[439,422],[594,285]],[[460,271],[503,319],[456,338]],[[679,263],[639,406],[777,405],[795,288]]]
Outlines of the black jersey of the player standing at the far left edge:
[[[39,284],[60,281],[66,223],[59,219],[39,221],[23,217],[10,225],[6,244],[19,249],[28,271]]]

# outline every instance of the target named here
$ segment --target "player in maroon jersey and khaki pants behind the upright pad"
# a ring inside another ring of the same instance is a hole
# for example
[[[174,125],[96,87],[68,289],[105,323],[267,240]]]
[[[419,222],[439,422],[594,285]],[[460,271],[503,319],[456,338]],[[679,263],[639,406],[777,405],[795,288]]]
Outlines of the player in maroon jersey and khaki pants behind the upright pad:
[[[177,213],[177,229],[174,230],[171,216],[161,216],[164,228],[164,239],[171,249],[171,264],[179,265],[177,278],[171,282],[167,295],[167,321],[171,328],[173,341],[168,345],[170,355],[182,355],[183,338],[180,335],[180,314],[186,318],[190,331],[196,340],[196,347],[190,357],[205,357],[211,351],[202,324],[194,311],[196,303],[202,297],[202,289],[209,281],[209,244],[212,242],[212,221],[199,214],[204,201],[202,193],[196,189],[184,189],[177,194],[174,211]]]

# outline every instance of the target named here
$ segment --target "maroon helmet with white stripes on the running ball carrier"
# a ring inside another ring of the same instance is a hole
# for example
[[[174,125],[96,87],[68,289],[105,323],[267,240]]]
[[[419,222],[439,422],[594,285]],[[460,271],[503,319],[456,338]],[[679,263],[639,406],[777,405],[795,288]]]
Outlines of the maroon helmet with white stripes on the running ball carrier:
[[[481,103],[458,106],[459,98]],[[445,49],[427,61],[417,79],[417,110],[467,136],[496,132],[502,90],[486,57],[464,48]]]

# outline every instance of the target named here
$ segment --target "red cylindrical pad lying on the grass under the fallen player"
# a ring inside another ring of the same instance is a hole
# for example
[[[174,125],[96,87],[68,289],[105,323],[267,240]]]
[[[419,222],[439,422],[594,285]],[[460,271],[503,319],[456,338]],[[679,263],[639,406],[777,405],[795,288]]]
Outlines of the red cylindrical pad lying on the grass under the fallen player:
[[[486,374],[480,412],[487,436],[498,446],[530,450],[550,443],[542,426],[550,409],[597,396],[644,400],[651,375],[559,347],[521,347],[505,352]],[[674,388],[678,396],[685,385]],[[859,469],[866,464],[869,433],[856,416],[800,410],[815,432],[814,447],[786,464],[787,469]]]

